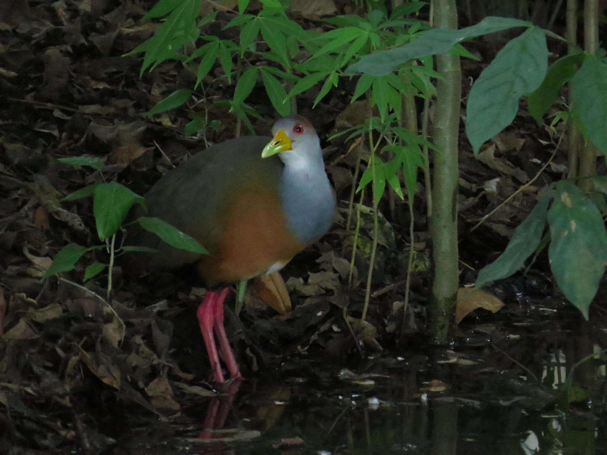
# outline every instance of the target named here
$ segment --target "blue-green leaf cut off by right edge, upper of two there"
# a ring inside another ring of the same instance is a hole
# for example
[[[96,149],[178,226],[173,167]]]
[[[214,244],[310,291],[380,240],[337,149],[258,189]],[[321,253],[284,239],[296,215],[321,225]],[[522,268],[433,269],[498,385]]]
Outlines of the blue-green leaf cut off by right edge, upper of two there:
[[[572,109],[580,116],[592,143],[607,152],[607,64],[586,55],[571,81],[571,90]]]

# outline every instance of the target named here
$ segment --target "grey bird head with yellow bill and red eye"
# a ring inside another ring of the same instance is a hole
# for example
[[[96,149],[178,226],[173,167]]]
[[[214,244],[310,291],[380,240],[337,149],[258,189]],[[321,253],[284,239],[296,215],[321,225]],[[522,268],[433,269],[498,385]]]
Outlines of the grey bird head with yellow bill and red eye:
[[[310,167],[322,163],[320,140],[310,121],[301,115],[280,118],[272,127],[273,138],[262,151],[262,158],[279,153],[289,167]]]

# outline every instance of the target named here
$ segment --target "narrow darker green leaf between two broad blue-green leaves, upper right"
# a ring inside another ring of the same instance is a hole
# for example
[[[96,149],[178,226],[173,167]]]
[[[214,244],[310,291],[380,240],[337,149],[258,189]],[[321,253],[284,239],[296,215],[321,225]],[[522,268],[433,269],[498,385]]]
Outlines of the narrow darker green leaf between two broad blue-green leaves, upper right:
[[[527,106],[529,113],[535,118],[539,124],[543,124],[542,116],[550,107],[554,100],[557,99],[558,91],[563,84],[571,81],[575,75],[577,66],[582,64],[584,59],[583,53],[575,53],[567,55],[555,61],[546,73],[541,86],[529,93],[527,96]]]

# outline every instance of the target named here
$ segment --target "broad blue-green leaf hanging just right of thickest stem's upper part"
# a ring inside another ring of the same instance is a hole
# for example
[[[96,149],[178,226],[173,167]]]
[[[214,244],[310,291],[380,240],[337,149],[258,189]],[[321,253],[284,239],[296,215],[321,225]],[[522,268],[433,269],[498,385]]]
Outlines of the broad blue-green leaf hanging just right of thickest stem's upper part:
[[[518,99],[540,86],[547,69],[546,36],[538,27],[527,29],[498,52],[468,97],[466,134],[474,153],[514,120]]]

